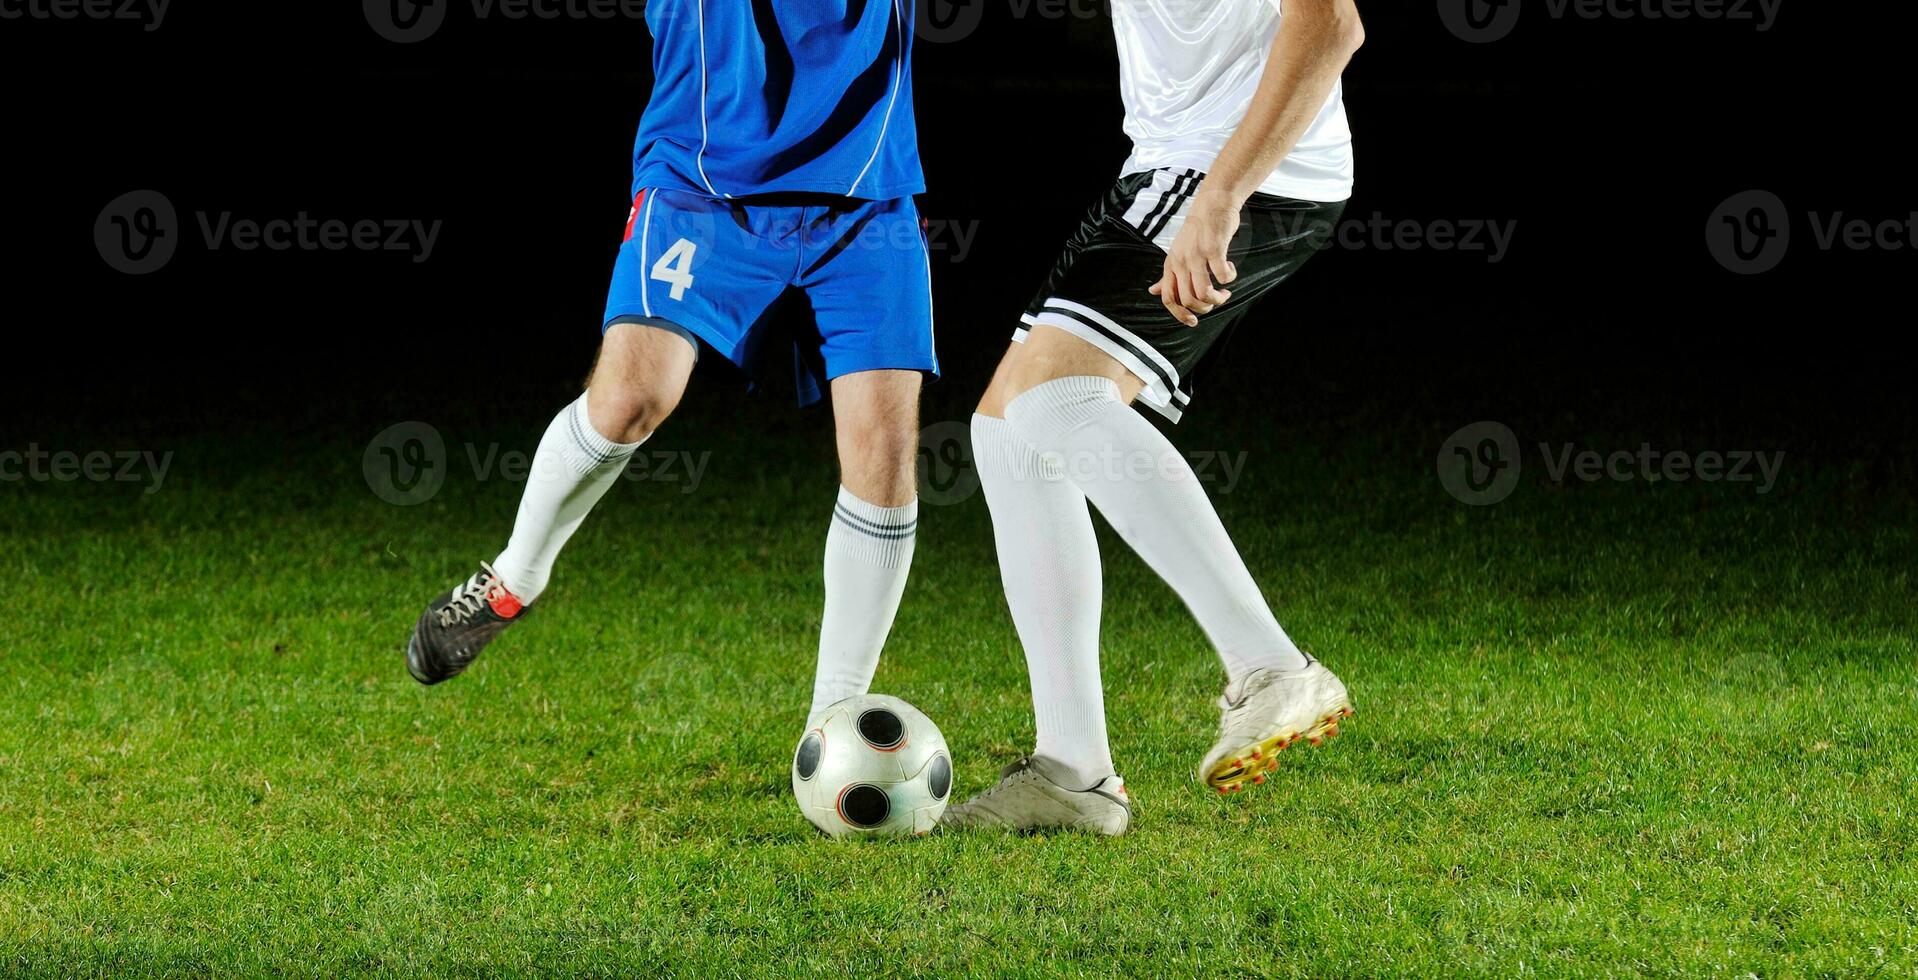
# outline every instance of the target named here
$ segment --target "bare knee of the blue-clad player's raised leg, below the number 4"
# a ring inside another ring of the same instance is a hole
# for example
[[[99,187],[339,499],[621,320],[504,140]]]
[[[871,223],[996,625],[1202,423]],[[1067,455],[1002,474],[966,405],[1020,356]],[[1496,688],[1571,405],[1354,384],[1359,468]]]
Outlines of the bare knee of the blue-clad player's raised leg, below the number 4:
[[[593,428],[620,441],[644,437],[679,407],[696,361],[698,349],[683,330],[616,320],[600,338],[587,382]]]

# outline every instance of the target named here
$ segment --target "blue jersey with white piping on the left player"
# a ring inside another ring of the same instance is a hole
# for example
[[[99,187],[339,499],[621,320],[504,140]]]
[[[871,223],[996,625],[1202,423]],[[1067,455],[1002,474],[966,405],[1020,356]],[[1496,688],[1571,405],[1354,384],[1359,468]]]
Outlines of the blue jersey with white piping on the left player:
[[[926,190],[915,0],[652,0],[637,188],[880,201]]]

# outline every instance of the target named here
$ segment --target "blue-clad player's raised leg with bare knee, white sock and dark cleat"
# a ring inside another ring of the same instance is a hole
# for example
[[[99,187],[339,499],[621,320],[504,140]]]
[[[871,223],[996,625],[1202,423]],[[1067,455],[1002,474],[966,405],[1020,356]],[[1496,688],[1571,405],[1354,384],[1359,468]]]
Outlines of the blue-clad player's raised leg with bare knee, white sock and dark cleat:
[[[618,322],[600,339],[587,391],[547,426],[506,550],[412,627],[407,669],[422,685],[464,671],[547,589],[560,548],[625,470],[633,451],[679,407],[696,351],[671,330]]]

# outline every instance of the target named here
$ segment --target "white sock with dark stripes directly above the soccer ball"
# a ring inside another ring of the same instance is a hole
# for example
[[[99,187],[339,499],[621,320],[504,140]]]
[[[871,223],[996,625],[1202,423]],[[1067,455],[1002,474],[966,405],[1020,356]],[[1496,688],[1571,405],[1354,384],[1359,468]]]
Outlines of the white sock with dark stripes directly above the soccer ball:
[[[840,487],[827,531],[827,612],[819,621],[819,671],[811,717],[854,694],[865,694],[878,652],[905,595],[919,533],[919,501],[869,504]]]

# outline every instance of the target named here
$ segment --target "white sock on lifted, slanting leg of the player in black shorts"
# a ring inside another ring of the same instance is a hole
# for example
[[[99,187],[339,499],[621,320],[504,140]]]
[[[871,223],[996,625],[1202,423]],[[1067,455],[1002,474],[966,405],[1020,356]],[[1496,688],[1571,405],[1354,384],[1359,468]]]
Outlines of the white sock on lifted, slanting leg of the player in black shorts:
[[[1005,407],[1005,418],[1105,514],[1112,529],[1193,610],[1231,681],[1306,664],[1226,535],[1185,456],[1107,378],[1059,378]]]

